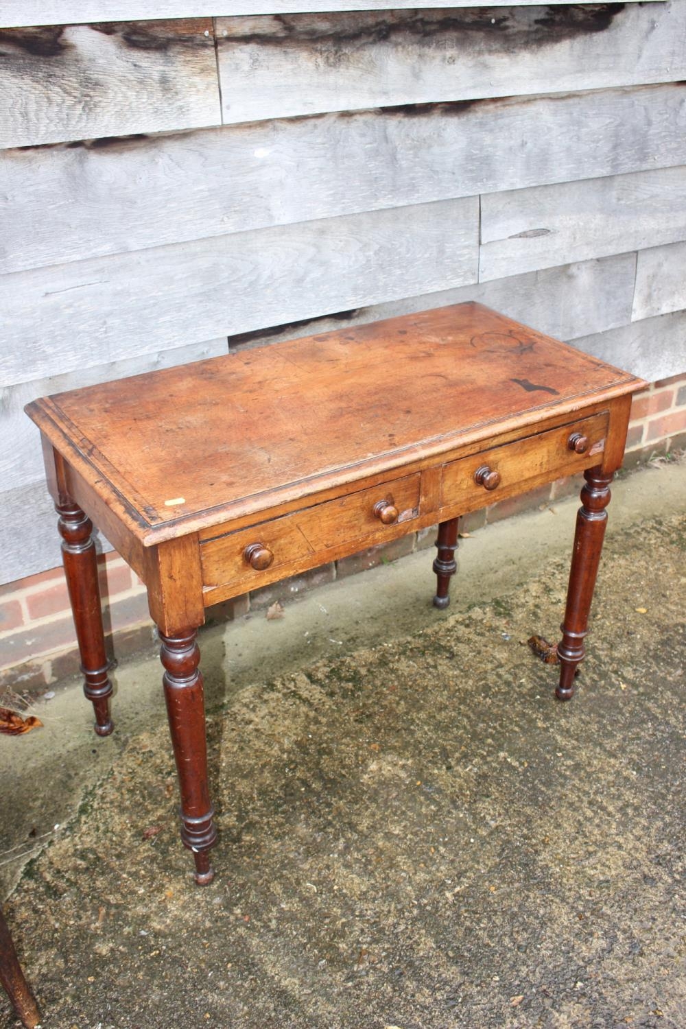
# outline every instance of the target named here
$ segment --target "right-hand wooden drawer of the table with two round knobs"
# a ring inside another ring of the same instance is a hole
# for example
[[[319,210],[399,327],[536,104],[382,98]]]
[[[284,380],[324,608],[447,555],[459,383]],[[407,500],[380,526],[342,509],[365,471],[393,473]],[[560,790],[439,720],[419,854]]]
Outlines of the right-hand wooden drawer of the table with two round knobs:
[[[602,412],[453,461],[441,474],[441,507],[460,505],[466,513],[591,468],[601,461],[607,429],[608,413]]]

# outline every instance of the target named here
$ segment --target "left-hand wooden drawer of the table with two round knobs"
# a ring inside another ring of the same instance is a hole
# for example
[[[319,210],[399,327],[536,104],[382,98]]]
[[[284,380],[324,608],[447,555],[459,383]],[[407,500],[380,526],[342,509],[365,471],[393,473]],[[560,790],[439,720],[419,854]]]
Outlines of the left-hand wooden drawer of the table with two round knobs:
[[[392,539],[419,513],[418,472],[210,539],[201,544],[206,594],[233,583],[254,590],[332,560],[341,544],[359,540],[362,549]]]

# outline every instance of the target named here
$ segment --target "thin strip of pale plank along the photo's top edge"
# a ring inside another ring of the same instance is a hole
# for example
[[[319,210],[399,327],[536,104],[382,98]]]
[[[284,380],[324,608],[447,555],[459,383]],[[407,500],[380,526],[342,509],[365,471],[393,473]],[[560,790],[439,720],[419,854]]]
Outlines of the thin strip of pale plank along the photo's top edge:
[[[492,6],[511,0],[492,0]],[[520,0],[522,4],[539,0]],[[552,4],[566,0],[550,0]],[[589,0],[582,0],[588,3]],[[629,0],[633,2],[633,0]],[[657,0],[651,0],[657,2]],[[463,0],[478,7],[481,0]],[[393,0],[394,8],[452,7],[454,0]],[[210,14],[294,14],[319,10],[377,10],[389,0],[3,0],[0,28],[21,25],[76,25],[79,22],[131,22],[155,17],[201,17]],[[230,9],[229,9],[230,8]]]

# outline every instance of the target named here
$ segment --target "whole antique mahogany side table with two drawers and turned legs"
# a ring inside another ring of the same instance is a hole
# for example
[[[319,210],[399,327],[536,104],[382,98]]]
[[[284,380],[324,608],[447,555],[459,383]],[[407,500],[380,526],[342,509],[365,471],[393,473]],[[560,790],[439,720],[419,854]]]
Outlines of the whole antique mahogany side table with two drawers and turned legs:
[[[448,602],[461,514],[583,471],[556,695],[571,698],[631,393],[645,383],[461,304],[44,397],[42,435],[96,732],[112,732],[95,522],[148,590],[181,792],[211,882],[205,609],[439,524]]]

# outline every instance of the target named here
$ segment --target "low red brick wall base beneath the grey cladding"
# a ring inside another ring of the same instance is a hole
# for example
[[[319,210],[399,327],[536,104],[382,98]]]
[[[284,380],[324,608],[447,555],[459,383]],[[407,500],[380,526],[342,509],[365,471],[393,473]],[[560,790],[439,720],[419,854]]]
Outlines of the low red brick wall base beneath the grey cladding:
[[[625,467],[634,467],[653,456],[686,447],[686,375],[653,383],[636,395],[631,409]],[[559,480],[522,497],[503,500],[469,516],[467,527],[479,528],[511,514],[542,506],[578,492],[575,481]],[[433,544],[435,532],[424,530],[384,547],[373,547],[335,565],[314,569],[249,597],[210,609],[214,619],[266,607],[274,600],[291,599],[304,590],[355,574],[382,561],[394,561],[420,547]],[[59,537],[56,528],[56,556]],[[153,626],[148,614],[145,588],[116,554],[100,558],[101,593],[105,626],[117,657],[152,646]],[[78,671],[74,630],[62,568],[32,575],[0,587],[0,687],[46,688]]]

